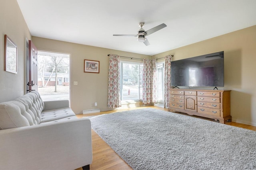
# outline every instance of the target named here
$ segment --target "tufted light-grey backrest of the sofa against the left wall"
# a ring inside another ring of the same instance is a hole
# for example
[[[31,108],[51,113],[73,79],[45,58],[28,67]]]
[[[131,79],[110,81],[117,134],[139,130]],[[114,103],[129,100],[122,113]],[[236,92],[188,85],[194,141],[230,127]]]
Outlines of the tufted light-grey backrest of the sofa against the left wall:
[[[38,125],[42,110],[44,110],[44,102],[36,91],[0,103],[0,129]]]

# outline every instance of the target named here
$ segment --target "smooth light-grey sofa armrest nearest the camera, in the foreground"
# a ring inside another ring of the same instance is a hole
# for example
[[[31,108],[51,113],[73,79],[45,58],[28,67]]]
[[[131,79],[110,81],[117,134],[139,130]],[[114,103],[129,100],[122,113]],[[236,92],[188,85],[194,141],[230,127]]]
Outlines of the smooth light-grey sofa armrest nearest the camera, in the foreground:
[[[88,118],[0,130],[0,169],[71,170],[92,163]]]

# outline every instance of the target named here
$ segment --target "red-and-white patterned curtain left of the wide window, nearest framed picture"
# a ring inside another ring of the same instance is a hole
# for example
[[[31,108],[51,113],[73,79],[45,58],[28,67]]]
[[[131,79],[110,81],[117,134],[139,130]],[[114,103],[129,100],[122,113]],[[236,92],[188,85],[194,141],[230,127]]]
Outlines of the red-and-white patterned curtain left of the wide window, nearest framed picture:
[[[121,107],[119,55],[110,55],[108,68],[108,108]]]

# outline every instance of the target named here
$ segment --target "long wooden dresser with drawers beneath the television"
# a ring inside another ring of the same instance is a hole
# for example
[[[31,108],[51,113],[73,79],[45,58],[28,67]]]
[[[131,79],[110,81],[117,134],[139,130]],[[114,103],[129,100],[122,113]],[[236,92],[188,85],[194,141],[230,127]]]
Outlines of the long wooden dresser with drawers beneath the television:
[[[170,89],[168,111],[179,111],[219,120],[232,121],[230,115],[231,90]]]

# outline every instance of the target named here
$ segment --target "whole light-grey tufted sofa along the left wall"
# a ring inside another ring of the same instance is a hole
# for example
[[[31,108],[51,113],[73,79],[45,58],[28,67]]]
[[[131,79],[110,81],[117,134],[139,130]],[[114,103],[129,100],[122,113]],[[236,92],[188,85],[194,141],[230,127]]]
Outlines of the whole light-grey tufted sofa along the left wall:
[[[32,91],[0,103],[0,170],[87,169],[91,163],[90,119],[78,119],[68,100],[43,102]]]

